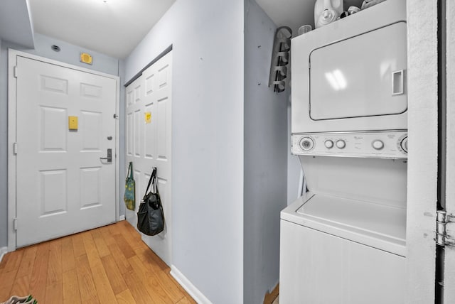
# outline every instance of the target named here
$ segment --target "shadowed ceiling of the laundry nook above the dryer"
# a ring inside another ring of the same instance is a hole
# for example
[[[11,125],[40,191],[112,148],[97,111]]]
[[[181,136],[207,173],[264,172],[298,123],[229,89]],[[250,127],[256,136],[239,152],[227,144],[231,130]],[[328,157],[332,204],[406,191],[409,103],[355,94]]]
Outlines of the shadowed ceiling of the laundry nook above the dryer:
[[[305,24],[314,28],[314,4],[316,0],[256,0],[277,26],[289,26],[293,36]],[[362,0],[343,0],[345,11],[349,6],[362,6]]]

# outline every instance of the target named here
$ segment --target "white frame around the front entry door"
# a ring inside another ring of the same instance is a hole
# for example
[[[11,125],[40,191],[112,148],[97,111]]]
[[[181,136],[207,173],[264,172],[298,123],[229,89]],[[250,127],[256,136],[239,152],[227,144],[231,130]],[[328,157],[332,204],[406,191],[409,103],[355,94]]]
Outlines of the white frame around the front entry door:
[[[16,218],[16,155],[14,154],[14,143],[16,142],[16,87],[17,78],[14,77],[14,67],[17,63],[17,58],[23,57],[31,60],[38,60],[51,65],[58,65],[80,72],[87,72],[93,75],[103,76],[115,80],[115,114],[119,114],[120,109],[120,79],[116,75],[109,75],[103,72],[90,70],[77,65],[62,63],[57,60],[43,58],[41,56],[32,55],[21,52],[19,50],[8,49],[8,251],[15,251],[16,246],[16,230],[14,229],[14,219]],[[118,222],[120,218],[119,210],[119,119],[115,121],[115,219]]]

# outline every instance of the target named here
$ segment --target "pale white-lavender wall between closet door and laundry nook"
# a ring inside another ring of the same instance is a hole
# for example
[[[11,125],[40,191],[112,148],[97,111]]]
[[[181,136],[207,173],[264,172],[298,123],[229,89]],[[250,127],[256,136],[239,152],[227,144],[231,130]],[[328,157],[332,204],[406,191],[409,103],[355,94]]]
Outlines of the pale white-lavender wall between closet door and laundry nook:
[[[125,60],[173,45],[172,264],[213,303],[242,303],[243,1],[177,0]]]

